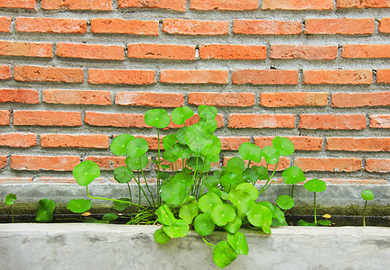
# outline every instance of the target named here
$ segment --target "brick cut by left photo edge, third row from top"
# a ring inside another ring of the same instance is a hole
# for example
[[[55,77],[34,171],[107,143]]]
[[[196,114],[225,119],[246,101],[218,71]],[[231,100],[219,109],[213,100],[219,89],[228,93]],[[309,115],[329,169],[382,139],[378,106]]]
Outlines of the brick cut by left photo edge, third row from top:
[[[51,58],[53,56],[52,47],[51,43],[1,40],[0,55]]]

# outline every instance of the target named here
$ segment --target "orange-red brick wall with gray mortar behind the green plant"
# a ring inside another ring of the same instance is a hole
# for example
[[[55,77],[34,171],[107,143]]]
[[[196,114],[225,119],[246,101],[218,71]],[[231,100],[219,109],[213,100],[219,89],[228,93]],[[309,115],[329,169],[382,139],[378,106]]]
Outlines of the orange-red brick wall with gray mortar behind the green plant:
[[[388,184],[386,0],[0,0],[0,184],[104,170],[150,108],[218,107],[220,165],[286,136],[333,184]],[[164,132],[167,133],[167,132]],[[155,176],[155,166],[149,175]]]

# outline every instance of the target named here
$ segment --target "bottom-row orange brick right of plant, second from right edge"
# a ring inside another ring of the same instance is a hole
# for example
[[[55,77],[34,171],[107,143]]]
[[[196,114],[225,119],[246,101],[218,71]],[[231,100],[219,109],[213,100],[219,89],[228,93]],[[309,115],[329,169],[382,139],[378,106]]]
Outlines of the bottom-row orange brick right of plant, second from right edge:
[[[304,172],[354,172],[361,170],[361,159],[354,157],[297,157],[294,160],[294,166],[300,167]]]

